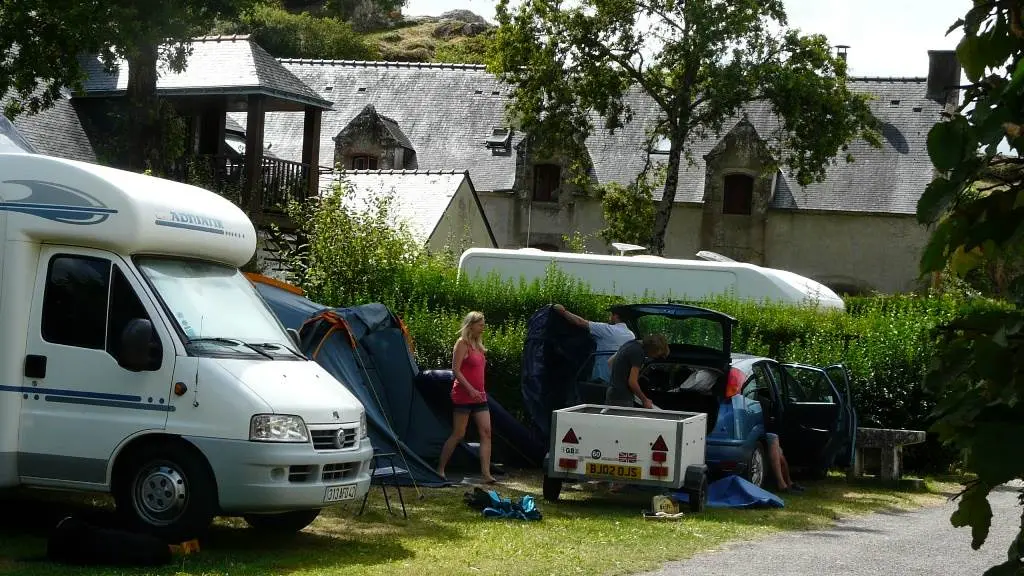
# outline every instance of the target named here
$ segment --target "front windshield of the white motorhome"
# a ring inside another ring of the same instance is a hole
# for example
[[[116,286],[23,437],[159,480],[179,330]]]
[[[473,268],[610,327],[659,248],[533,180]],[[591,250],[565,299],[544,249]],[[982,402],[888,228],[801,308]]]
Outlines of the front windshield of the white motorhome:
[[[297,357],[288,333],[237,269],[170,258],[138,258],[137,264],[195,354]]]

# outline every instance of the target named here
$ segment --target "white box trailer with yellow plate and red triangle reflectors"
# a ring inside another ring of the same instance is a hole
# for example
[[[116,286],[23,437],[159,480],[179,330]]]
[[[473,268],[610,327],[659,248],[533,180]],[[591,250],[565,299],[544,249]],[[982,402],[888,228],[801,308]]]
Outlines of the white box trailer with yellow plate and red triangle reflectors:
[[[558,500],[565,480],[607,480],[683,490],[690,509],[708,502],[702,412],[581,404],[551,413],[544,498]]]

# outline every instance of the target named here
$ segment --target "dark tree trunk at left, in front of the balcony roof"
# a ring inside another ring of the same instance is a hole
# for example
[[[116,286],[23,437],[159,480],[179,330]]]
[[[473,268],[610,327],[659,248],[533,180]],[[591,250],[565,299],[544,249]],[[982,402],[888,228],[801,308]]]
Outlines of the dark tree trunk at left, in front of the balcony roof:
[[[128,56],[128,169],[163,170],[160,153],[160,99],[157,97],[157,44],[139,46]]]

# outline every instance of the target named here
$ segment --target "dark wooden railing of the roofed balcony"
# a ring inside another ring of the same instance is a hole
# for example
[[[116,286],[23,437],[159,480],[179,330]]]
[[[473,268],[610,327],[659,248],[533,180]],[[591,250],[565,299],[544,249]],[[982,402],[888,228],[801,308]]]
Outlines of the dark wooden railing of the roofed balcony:
[[[319,170],[313,177],[319,177]],[[306,198],[309,165],[278,158],[263,158],[257,182],[264,212],[282,213],[291,200]],[[173,174],[180,181],[206,188],[240,206],[245,190],[246,158],[201,155],[187,158]]]

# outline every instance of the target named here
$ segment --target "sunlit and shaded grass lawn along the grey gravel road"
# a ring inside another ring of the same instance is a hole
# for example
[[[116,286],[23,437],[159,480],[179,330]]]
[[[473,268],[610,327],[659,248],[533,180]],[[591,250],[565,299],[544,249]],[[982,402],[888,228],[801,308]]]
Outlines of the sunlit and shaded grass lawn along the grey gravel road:
[[[940,492],[953,488],[930,484],[928,493],[896,492],[848,485],[839,477],[805,486],[808,491],[786,497],[781,509],[710,509],[679,521],[653,521],[640,515],[650,506],[649,493],[609,495],[566,486],[562,501],[551,504],[540,497],[537,474],[509,474],[495,489],[506,497],[532,494],[544,513],[540,522],[483,519],[462,502],[468,486],[423,490],[422,500],[413,488],[403,488],[407,521],[400,511],[387,513],[376,488],[366,515],[355,516],[358,504],[333,508],[287,539],[261,536],[241,520],[218,519],[199,554],[156,572],[75,569],[34,560],[45,552],[46,531],[59,518],[83,507],[102,515],[109,502],[31,493],[0,500],[0,575],[626,574],[780,530],[824,528],[845,516],[935,504],[944,497]]]

